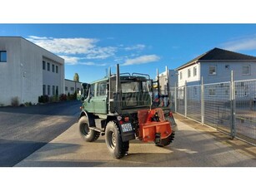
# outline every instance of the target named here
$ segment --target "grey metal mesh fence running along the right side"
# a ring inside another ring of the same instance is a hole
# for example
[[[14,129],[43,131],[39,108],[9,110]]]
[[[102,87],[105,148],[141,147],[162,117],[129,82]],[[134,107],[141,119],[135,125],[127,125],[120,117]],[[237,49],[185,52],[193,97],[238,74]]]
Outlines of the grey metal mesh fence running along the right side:
[[[170,88],[173,111],[256,143],[256,79]]]

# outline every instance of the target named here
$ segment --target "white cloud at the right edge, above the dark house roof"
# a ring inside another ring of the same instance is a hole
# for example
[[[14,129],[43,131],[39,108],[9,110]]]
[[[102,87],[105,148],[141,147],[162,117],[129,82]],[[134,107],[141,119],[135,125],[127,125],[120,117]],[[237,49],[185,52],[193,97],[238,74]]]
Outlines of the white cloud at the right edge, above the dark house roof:
[[[229,51],[246,51],[246,50],[255,50],[256,49],[256,37],[246,37],[232,42],[226,42],[222,44],[224,49]]]

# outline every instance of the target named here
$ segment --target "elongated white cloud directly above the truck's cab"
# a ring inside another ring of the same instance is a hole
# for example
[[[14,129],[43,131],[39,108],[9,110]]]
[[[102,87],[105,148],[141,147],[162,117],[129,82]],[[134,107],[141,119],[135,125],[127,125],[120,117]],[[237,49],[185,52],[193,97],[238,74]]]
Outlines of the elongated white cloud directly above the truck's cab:
[[[145,63],[148,63],[148,62],[159,61],[159,60],[160,60],[160,57],[156,56],[156,55],[138,56],[136,58],[127,59],[123,63],[123,66],[139,65],[139,64],[145,64]]]

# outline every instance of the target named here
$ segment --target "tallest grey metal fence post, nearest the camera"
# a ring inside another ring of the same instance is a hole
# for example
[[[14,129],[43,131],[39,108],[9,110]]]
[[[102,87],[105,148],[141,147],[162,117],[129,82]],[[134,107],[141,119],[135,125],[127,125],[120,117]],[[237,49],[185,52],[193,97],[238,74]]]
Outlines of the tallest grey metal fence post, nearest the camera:
[[[234,82],[233,82],[233,71],[231,71],[231,81],[230,81],[230,86],[231,86],[231,91],[230,91],[230,119],[231,119],[231,123],[230,123],[230,133],[231,133],[231,137],[232,139],[235,138],[236,136],[236,130],[235,130],[235,86],[234,86]]]

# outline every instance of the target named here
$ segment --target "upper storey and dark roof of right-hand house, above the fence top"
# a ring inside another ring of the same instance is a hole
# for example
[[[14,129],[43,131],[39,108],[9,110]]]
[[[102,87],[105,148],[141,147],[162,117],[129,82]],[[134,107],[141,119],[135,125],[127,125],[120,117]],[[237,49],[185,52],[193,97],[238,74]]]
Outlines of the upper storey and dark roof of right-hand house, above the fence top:
[[[179,66],[178,86],[200,85],[230,81],[231,71],[235,81],[256,79],[256,57],[213,48]]]

